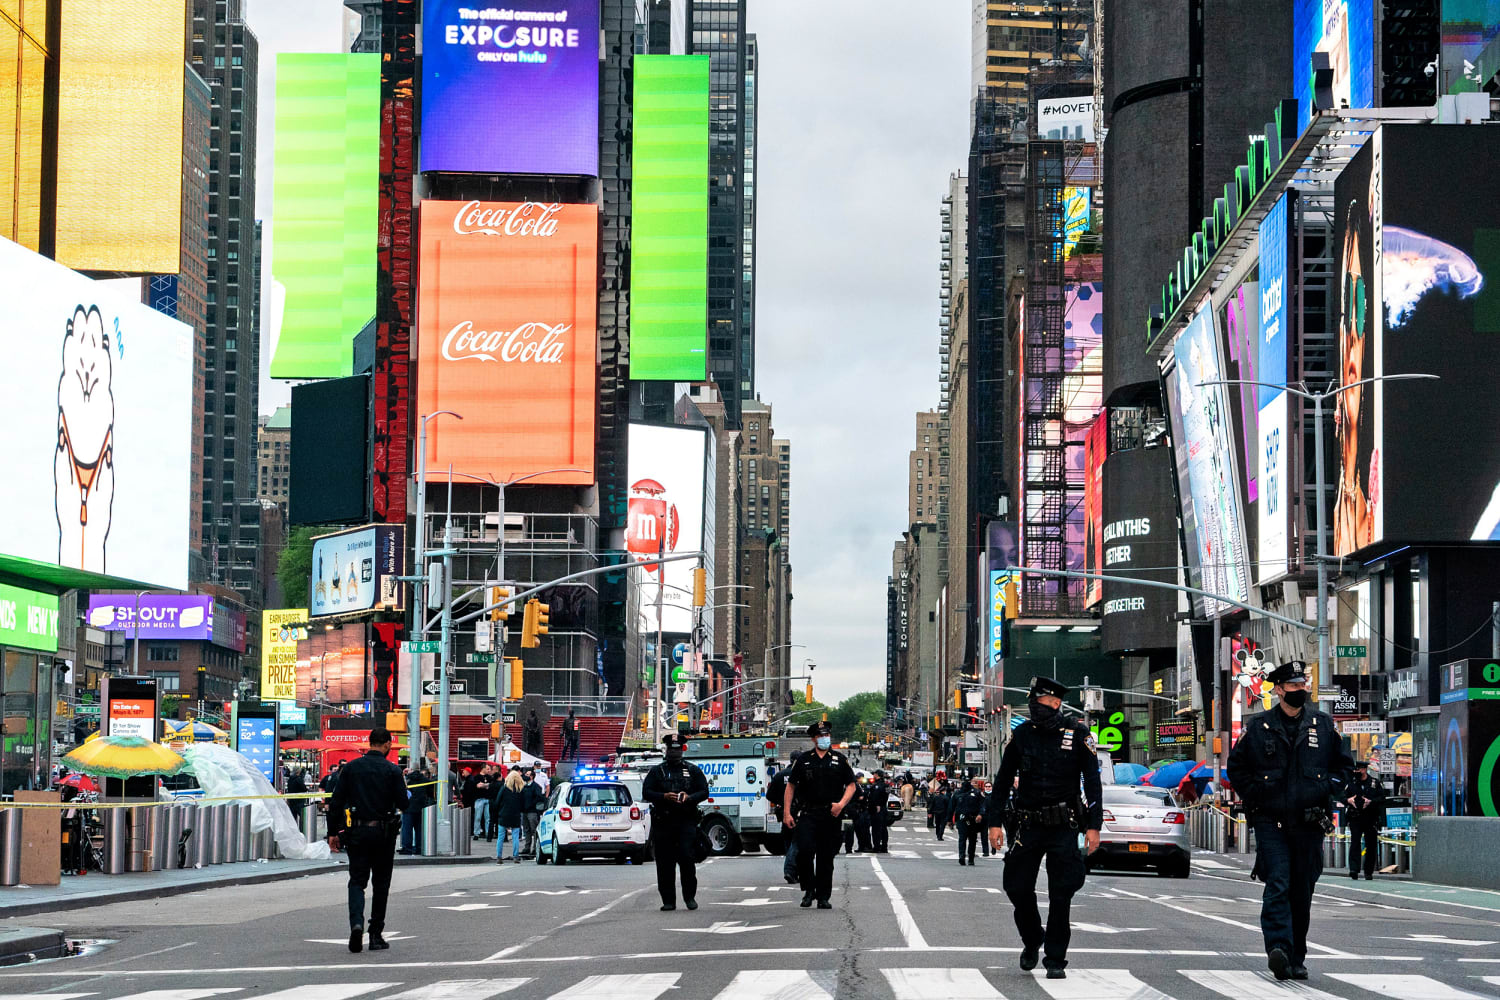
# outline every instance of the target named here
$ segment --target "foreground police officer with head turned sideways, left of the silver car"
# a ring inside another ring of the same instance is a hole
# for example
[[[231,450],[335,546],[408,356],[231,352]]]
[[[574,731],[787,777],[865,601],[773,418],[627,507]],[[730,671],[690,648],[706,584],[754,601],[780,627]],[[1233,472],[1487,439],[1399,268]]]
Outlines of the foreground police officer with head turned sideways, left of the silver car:
[[[1104,823],[1100,762],[1089,748],[1088,727],[1062,720],[1062,697],[1066,693],[1068,688],[1052,678],[1032,679],[1030,718],[1005,744],[994,795],[984,814],[993,850],[1000,849],[1006,825],[1014,823],[1014,840],[1005,855],[1005,895],[1016,907],[1022,969],[1035,969],[1038,955],[1044,952],[1047,979],[1068,976],[1068,939],[1072,934],[1068,907],[1072,895],[1083,888],[1088,871],[1084,855],[1078,850],[1078,832],[1083,832],[1092,855],[1100,847]],[[1005,790],[1012,784],[1016,792],[1006,808]],[[1044,858],[1046,930],[1036,909],[1036,873]]]

